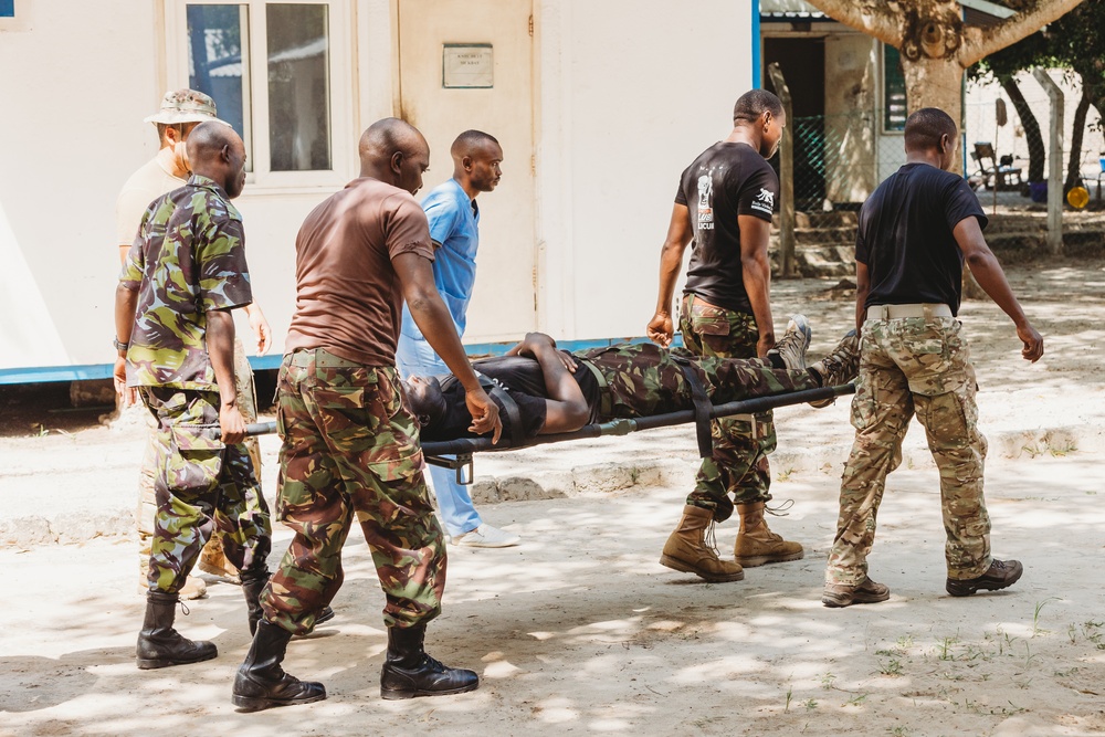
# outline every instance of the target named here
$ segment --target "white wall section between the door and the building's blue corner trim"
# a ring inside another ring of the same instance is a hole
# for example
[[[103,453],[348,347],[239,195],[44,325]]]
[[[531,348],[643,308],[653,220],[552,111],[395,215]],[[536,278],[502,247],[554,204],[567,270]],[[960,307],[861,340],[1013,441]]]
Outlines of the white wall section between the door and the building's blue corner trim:
[[[540,3],[541,324],[639,336],[678,177],[750,86],[747,3]],[[544,171],[543,171],[544,170]]]

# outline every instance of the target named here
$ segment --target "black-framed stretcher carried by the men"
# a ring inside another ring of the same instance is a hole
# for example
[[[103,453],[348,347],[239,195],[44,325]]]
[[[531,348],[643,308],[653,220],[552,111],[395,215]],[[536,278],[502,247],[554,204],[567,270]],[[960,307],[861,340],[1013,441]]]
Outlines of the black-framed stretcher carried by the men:
[[[838,387],[821,387],[819,389],[803,389],[802,391],[791,391],[768,397],[756,397],[744,399],[737,402],[724,404],[712,404],[705,410],[681,410],[666,414],[653,414],[633,419],[617,419],[608,422],[593,422],[583,425],[573,432],[562,432],[549,435],[536,435],[528,438],[524,442],[512,443],[504,435],[498,443],[492,443],[490,435],[480,438],[457,438],[455,440],[430,441],[422,443],[422,453],[427,463],[452,468],[456,472],[456,481],[460,484],[469,485],[474,478],[472,470],[472,456],[475,453],[516,451],[523,448],[535,445],[546,445],[548,443],[562,443],[571,440],[591,440],[594,438],[606,438],[611,435],[628,435],[639,430],[654,430],[656,428],[670,428],[677,424],[695,423],[698,433],[699,455],[708,455],[709,448],[709,420],[717,418],[734,417],[738,414],[757,414],[780,407],[803,404],[825,399],[835,399],[845,394],[855,393],[855,385],[845,383]],[[256,422],[246,427],[249,435],[265,435],[276,432],[275,422]]]

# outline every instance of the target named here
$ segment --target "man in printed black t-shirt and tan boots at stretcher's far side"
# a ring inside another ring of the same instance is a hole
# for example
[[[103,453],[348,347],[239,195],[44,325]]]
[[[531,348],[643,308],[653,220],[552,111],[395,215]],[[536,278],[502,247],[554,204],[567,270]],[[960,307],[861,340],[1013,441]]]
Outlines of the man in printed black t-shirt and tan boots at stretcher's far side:
[[[764,90],[740,96],[733,109],[733,131],[703,151],[683,172],[660,261],[660,296],[649,337],[672,340],[672,297],[692,241],[691,265],[680,309],[683,345],[692,352],[720,358],[765,357],[775,345],[767,256],[771,214],[779,179],[767,159],[775,156],[787,124],[779,98]],[[802,546],[772,533],[764,520],[771,498],[767,455],[776,448],[770,412],[718,420],[714,454],[704,459],[683,518],[664,546],[661,562],[707,581],[738,581],[744,566],[798,560]],[[707,530],[740,515],[735,562],[720,560]]]

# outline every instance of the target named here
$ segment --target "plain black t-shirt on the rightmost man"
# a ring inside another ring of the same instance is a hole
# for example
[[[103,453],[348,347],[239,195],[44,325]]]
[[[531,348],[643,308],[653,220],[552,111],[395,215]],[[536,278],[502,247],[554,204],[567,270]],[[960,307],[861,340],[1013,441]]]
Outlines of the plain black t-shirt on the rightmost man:
[[[860,210],[855,260],[867,266],[864,306],[946,304],[959,314],[964,254],[953,230],[960,220],[987,219],[959,175],[928,164],[906,164]]]

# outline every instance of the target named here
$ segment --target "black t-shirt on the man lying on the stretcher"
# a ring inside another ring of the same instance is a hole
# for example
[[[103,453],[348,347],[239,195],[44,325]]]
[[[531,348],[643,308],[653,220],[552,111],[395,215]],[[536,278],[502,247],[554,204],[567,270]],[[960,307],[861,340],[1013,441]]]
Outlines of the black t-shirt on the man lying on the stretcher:
[[[545,427],[547,412],[545,400],[548,398],[540,365],[532,358],[497,356],[473,361],[472,368],[498,383],[518,406],[518,415],[523,423],[522,436],[526,439],[536,436]],[[586,367],[580,366],[572,376],[576,378],[580,391],[583,392],[583,399],[587,400],[588,407],[597,407],[599,386],[591,372]],[[472,415],[464,403],[464,387],[461,386],[461,382],[451,375],[448,378],[441,378],[441,391],[445,396],[445,417],[441,422],[433,423],[432,427],[422,428],[420,433],[422,440],[476,438],[477,435],[469,432]],[[512,432],[509,413],[504,411],[503,401],[496,397],[495,392],[488,392],[488,394],[499,406],[498,417],[503,421],[503,438],[509,439]]]

